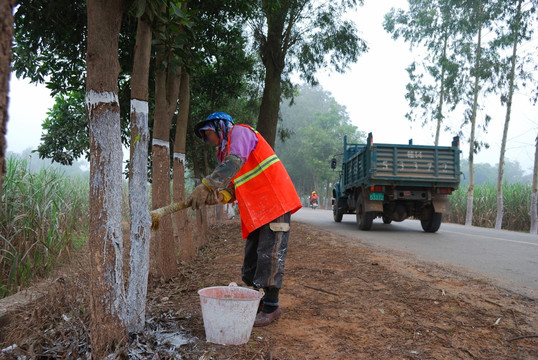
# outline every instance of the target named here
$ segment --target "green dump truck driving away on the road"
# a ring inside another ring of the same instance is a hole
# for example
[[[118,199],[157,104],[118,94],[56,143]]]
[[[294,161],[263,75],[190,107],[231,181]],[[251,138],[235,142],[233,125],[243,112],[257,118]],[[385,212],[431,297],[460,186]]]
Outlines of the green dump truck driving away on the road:
[[[385,224],[413,217],[424,231],[436,232],[460,182],[460,152],[457,136],[451,146],[376,144],[372,133],[366,144],[349,144],[344,137],[340,181],[332,192],[334,221],[355,214],[357,227],[370,230],[376,217]]]

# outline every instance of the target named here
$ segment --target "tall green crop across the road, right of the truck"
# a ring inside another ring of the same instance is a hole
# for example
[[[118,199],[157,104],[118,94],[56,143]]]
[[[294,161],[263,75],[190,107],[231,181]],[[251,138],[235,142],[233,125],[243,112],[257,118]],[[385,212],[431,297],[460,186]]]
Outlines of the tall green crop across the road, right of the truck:
[[[465,224],[468,186],[461,186],[449,196],[451,213],[447,222]],[[530,184],[503,184],[504,217],[502,228],[514,231],[529,231],[531,203]],[[497,216],[497,187],[495,184],[478,185],[473,194],[473,225],[495,227]]]

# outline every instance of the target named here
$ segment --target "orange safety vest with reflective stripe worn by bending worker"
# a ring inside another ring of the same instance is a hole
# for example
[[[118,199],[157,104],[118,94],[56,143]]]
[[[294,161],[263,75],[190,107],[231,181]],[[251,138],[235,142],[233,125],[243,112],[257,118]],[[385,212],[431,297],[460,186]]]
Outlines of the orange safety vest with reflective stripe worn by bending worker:
[[[248,125],[235,126],[252,130],[258,138],[258,144],[248,156],[247,162],[232,180],[241,215],[241,233],[243,239],[246,239],[248,234],[260,226],[287,212],[293,214],[302,204],[288,172],[267,141]],[[233,129],[232,127],[228,135],[230,140],[226,154],[230,152]]]

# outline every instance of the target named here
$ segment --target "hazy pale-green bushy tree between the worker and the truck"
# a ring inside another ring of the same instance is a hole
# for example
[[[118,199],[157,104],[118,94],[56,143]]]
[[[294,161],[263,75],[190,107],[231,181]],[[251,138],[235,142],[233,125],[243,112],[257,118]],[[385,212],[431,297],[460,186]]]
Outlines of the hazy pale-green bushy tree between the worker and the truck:
[[[278,157],[301,197],[312,190],[324,197],[338,179],[330,163],[342,153],[344,136],[358,142],[365,134],[351,124],[345,107],[319,87],[300,86],[295,103],[282,106],[281,112],[291,135],[285,142],[277,141]]]

